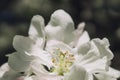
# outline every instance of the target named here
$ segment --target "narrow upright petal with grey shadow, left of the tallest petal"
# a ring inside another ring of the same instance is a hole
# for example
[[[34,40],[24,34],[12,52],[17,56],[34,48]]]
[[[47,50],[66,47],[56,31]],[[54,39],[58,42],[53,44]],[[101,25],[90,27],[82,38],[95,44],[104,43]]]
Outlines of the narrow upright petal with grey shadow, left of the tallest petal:
[[[40,48],[44,47],[45,31],[44,19],[42,16],[36,15],[32,18],[29,29],[29,37],[34,40]]]

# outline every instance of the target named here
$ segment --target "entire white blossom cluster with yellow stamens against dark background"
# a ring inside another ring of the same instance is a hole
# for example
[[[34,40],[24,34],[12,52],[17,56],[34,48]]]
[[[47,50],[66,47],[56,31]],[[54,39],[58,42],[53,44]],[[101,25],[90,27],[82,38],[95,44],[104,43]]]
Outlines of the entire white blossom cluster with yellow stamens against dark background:
[[[43,17],[32,18],[28,37],[13,40],[16,52],[0,68],[0,80],[117,80],[110,67],[113,53],[107,38],[90,40],[85,23],[74,29],[64,10],[55,11],[44,27]]]

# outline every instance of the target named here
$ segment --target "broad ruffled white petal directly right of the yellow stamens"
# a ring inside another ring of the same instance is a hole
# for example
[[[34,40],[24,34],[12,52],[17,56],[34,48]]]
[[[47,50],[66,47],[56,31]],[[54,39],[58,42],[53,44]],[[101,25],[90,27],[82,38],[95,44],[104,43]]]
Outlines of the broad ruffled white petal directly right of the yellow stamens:
[[[96,41],[97,39],[94,40]],[[108,70],[108,66],[110,65],[110,61],[108,60],[109,51],[106,49],[101,51],[98,45],[94,43],[94,40],[79,47],[76,62],[83,66],[88,72],[97,69]],[[102,42],[104,42],[104,40],[100,40],[99,44]],[[101,45],[100,47],[105,47],[105,45]],[[102,52],[105,54],[103,55]]]

